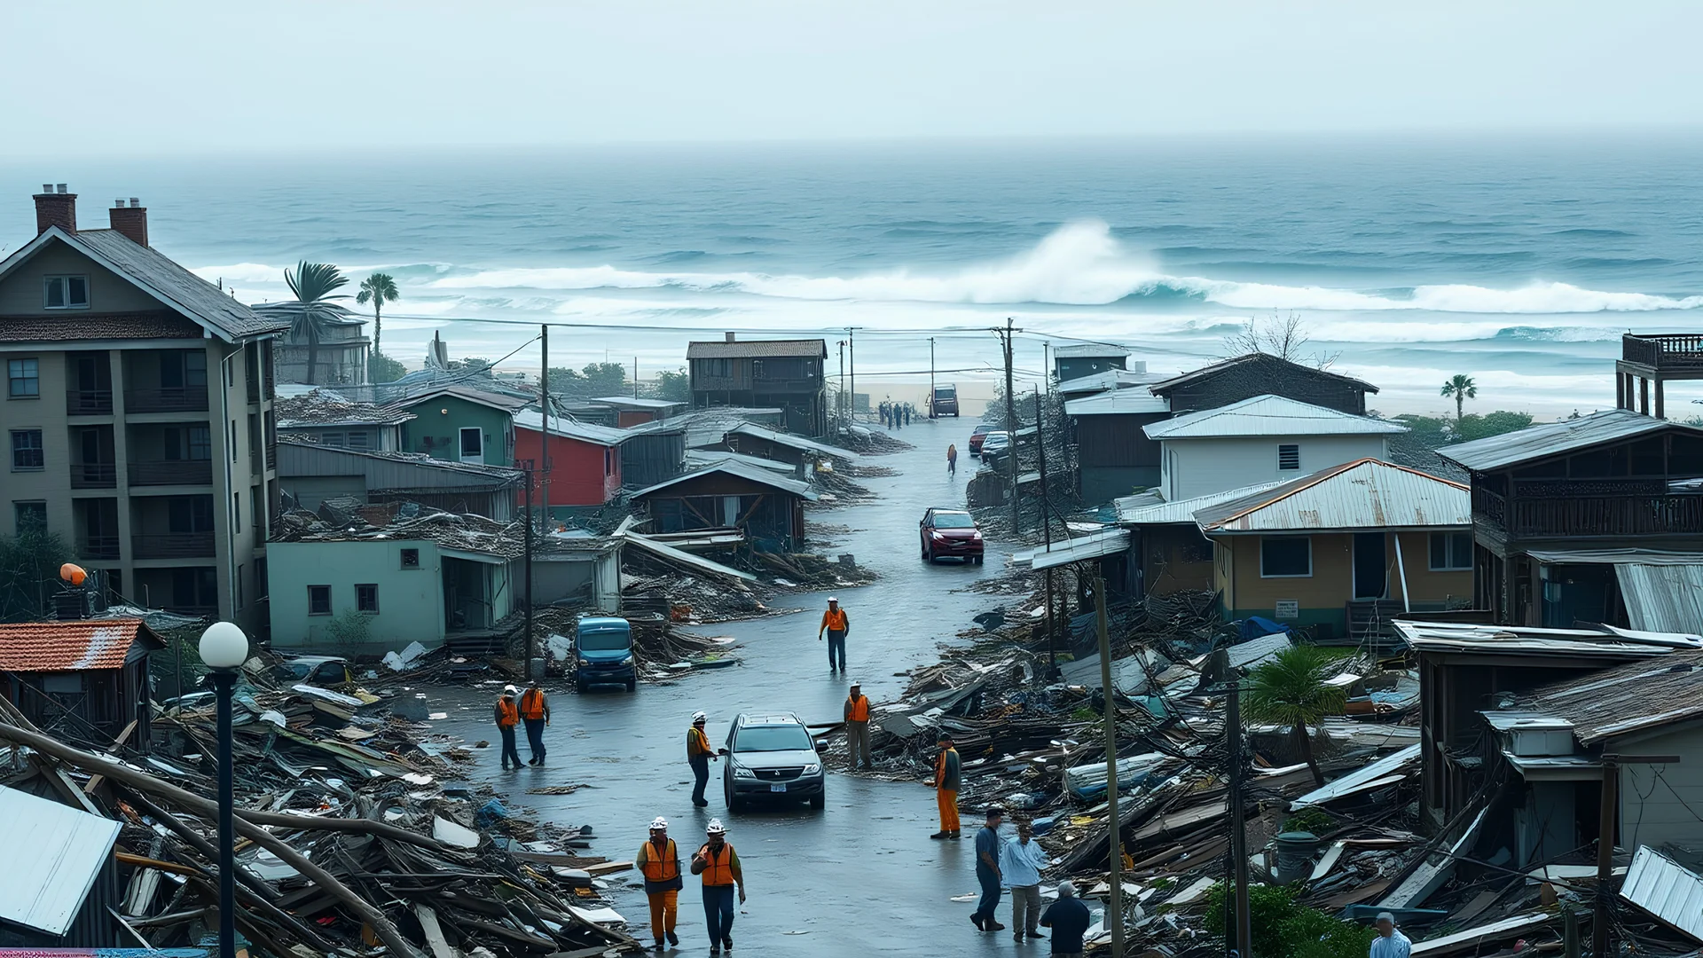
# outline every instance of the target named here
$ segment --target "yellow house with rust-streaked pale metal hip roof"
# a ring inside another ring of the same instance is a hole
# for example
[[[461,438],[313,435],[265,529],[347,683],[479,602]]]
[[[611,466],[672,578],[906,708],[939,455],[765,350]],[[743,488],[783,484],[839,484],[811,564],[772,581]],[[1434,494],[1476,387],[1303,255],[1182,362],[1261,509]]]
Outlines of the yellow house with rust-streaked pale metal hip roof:
[[[1226,619],[1347,634],[1352,603],[1448,609],[1473,595],[1466,486],[1378,459],[1333,465],[1194,513]]]

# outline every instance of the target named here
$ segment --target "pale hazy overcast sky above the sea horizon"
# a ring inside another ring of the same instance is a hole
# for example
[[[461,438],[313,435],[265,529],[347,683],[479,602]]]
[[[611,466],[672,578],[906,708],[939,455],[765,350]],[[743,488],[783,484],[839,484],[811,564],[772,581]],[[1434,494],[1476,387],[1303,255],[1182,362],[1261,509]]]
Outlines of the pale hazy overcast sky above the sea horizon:
[[[1700,34],[1696,0],[5,0],[0,152],[1694,126]]]

